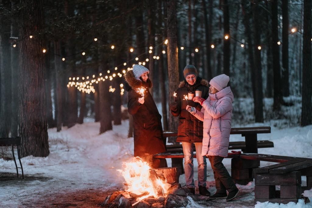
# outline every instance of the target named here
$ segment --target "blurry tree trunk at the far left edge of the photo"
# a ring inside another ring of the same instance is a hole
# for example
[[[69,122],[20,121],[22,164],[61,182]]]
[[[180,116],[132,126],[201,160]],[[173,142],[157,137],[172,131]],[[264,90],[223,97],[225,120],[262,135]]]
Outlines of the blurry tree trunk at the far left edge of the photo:
[[[2,16],[2,15],[1,15]],[[2,19],[2,21],[4,21]],[[12,107],[12,71],[11,71],[11,45],[10,27],[0,26],[0,71],[1,71],[1,107],[0,107],[0,138],[9,136],[11,130],[11,107]],[[16,84],[16,83],[15,83]]]

